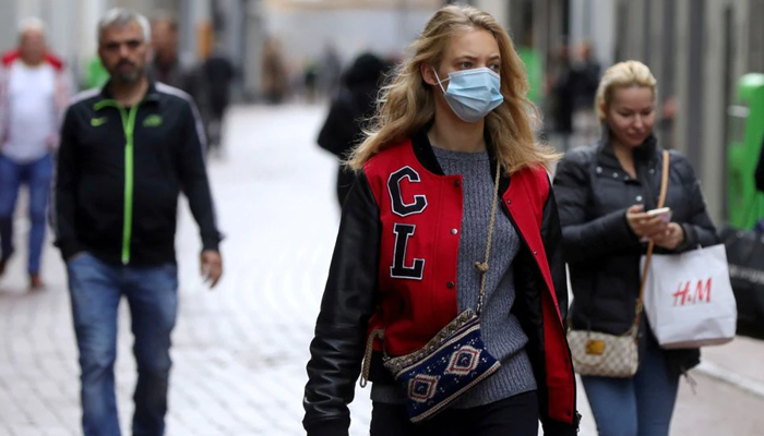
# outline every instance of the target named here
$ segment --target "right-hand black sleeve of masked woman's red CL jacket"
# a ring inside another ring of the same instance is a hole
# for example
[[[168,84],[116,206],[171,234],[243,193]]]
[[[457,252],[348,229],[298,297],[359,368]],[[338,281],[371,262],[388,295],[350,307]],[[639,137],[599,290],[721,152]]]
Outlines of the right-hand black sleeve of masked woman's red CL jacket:
[[[544,251],[547,253],[549,270],[552,275],[552,283],[557,293],[557,302],[560,306],[560,316],[564,323],[568,317],[568,279],[565,276],[565,259],[562,253],[562,230],[560,216],[557,210],[557,199],[549,185],[549,196],[544,205],[544,219],[541,222],[541,239]]]

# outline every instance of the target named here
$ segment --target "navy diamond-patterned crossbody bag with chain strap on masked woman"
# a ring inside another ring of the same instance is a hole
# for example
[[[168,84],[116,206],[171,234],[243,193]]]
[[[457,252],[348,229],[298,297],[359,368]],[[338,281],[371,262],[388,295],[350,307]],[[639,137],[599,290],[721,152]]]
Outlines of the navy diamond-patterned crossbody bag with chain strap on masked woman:
[[[480,312],[486,295],[486,274],[491,252],[499,197],[497,168],[491,220],[486,243],[486,261],[476,262],[480,271],[480,292],[475,311],[467,308],[438,332],[422,348],[401,356],[384,355],[384,366],[406,392],[406,409],[413,423],[421,422],[443,411],[461,395],[496,373],[501,363],[493,358],[482,341]],[[363,362],[361,386],[366,386],[373,341],[384,337],[383,330],[369,336]]]

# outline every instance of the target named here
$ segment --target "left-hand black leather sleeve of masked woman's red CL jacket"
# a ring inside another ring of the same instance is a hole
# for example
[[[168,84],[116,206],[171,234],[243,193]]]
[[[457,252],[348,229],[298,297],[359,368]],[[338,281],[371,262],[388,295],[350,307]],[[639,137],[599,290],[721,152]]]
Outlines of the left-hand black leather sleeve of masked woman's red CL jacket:
[[[343,208],[329,279],[310,344],[302,425],[309,436],[347,436],[355,382],[375,303],[379,207],[359,174]]]

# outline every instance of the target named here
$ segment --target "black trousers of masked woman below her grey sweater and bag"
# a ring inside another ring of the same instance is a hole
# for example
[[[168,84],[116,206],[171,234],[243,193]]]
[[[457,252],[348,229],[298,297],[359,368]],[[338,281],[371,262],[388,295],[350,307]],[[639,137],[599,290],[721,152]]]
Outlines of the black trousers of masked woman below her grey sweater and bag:
[[[420,424],[408,421],[406,408],[374,402],[371,436],[537,436],[536,391],[470,409],[447,409]]]

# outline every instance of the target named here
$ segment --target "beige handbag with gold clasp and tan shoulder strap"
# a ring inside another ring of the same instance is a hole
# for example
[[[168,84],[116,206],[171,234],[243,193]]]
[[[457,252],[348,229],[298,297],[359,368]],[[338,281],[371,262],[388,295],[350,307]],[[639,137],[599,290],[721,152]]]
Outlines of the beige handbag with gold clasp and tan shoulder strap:
[[[660,180],[660,197],[658,208],[666,203],[666,189],[668,187],[669,154],[664,152],[664,168]],[[642,271],[640,296],[634,310],[634,322],[631,328],[623,335],[610,335],[592,330],[570,330],[568,344],[573,356],[573,370],[581,375],[599,377],[633,377],[640,367],[640,352],[637,334],[640,319],[644,307],[644,294],[647,274],[649,271],[653,249],[650,242],[647,245],[647,254]]]

